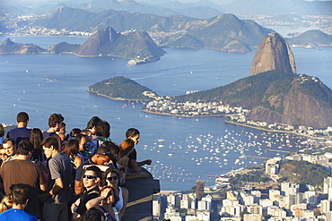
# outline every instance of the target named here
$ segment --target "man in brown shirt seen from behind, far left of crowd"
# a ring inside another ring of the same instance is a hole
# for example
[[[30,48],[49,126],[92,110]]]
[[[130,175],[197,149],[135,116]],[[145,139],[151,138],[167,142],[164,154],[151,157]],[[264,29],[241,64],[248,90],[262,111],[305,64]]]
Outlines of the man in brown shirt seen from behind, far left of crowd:
[[[11,192],[13,184],[24,183],[31,186],[31,197],[25,210],[32,216],[39,217],[38,192],[46,191],[46,183],[39,166],[30,161],[32,150],[32,143],[22,140],[18,145],[17,156],[1,166],[0,176],[4,182],[5,194]]]

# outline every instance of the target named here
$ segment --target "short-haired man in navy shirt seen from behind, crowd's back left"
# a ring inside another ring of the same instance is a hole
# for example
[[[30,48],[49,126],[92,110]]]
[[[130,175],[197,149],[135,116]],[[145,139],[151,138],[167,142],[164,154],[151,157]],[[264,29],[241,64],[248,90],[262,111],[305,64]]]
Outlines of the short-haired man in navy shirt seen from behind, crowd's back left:
[[[28,129],[29,115],[25,112],[20,112],[16,116],[17,128],[7,132],[7,138],[13,138],[16,143],[21,140],[29,140],[31,129]]]

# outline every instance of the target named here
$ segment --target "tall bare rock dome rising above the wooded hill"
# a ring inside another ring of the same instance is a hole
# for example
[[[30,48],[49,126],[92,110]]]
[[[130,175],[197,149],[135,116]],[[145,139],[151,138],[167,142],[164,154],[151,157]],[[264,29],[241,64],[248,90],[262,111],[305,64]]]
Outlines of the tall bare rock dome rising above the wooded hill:
[[[250,76],[274,70],[292,74],[296,73],[296,65],[291,48],[284,38],[270,33],[258,45],[251,64]]]

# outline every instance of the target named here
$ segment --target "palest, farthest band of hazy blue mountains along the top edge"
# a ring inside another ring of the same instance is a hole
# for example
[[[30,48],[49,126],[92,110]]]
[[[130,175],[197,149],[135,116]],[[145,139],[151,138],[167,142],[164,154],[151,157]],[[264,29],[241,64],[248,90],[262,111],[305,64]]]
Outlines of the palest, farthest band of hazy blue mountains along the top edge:
[[[93,13],[104,10],[122,10],[129,13],[153,13],[160,16],[185,15],[189,17],[208,19],[221,13],[235,14],[289,14],[299,15],[330,15],[332,1],[304,0],[237,0],[230,4],[214,4],[208,0],[200,0],[196,3],[180,3],[178,1],[133,1],[133,0],[92,0],[63,1],[47,4],[20,4],[14,1],[2,6],[5,13],[50,13],[57,6],[68,6],[83,9]],[[11,6],[9,6],[11,5]]]

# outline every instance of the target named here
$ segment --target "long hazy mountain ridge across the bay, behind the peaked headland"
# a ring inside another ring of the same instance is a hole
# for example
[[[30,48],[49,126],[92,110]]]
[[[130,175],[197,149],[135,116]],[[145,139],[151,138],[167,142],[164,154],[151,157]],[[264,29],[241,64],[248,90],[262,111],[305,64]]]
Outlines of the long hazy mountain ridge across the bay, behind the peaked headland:
[[[205,48],[224,52],[249,52],[250,47],[258,46],[259,41],[273,31],[254,21],[240,20],[233,14],[198,20],[114,10],[88,13],[68,7],[58,7],[50,17],[34,24],[49,29],[89,32],[105,26],[118,31],[145,30],[153,33],[154,41],[162,47]],[[162,34],[164,32],[168,34]]]

